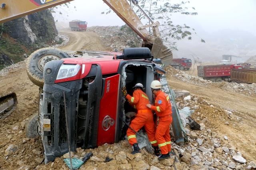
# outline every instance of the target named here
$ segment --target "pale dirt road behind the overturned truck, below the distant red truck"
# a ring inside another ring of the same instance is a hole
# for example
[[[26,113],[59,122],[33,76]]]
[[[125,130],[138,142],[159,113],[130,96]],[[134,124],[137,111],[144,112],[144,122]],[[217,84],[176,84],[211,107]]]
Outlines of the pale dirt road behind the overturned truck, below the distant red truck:
[[[94,32],[87,31],[60,31],[64,35],[68,35],[69,42],[60,49],[69,51],[82,51],[82,50],[92,50],[92,51],[106,51],[100,43],[99,35]]]

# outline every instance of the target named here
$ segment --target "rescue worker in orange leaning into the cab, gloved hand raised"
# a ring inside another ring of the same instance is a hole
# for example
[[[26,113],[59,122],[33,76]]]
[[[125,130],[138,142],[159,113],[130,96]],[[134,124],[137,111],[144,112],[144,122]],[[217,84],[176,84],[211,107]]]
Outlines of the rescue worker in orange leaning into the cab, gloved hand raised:
[[[137,114],[135,118],[131,121],[130,128],[127,130],[128,142],[133,146],[132,154],[140,153],[140,148],[137,143],[136,133],[143,126],[148,134],[148,140],[154,147],[155,154],[158,156],[160,154],[157,141],[155,139],[155,124],[153,120],[153,114],[151,109],[149,109],[146,104],[149,104],[149,99],[146,93],[144,93],[143,85],[137,83],[134,87],[133,95],[127,94],[126,87],[122,88],[122,92],[125,98],[129,101],[130,105],[135,106],[137,109]],[[135,131],[135,132],[134,132]]]

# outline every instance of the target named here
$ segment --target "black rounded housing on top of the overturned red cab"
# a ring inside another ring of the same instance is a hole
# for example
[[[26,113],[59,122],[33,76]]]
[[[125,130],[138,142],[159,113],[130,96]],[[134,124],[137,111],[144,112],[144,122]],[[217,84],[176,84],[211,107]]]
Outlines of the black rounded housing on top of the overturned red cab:
[[[151,59],[151,51],[146,47],[140,48],[126,48],[122,55],[116,57],[117,59],[135,60],[135,59]]]

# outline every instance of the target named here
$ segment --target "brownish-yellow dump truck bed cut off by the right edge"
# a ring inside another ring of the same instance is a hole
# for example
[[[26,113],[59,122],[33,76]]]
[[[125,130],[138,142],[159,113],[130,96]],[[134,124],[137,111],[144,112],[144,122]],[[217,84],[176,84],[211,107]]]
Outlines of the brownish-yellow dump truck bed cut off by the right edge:
[[[256,68],[232,68],[230,72],[230,80],[241,83],[256,83]]]

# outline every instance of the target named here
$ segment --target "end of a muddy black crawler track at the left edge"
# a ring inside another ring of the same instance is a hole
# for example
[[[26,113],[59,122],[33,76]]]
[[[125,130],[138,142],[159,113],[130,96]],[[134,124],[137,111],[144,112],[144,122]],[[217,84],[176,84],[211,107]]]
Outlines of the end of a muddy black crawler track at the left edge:
[[[3,96],[0,95],[0,119],[10,115],[16,108],[17,103],[17,97],[14,92]]]

